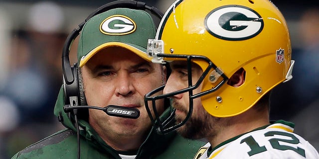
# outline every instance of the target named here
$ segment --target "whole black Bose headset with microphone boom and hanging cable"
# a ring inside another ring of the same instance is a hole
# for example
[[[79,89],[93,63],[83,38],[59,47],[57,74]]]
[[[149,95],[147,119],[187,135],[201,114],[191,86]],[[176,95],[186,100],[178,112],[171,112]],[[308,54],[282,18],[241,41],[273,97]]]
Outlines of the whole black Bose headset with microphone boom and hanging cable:
[[[73,31],[68,35],[62,50],[62,71],[63,71],[63,89],[64,89],[64,111],[70,115],[73,110],[75,127],[77,128],[77,136],[78,136],[78,159],[80,159],[80,140],[79,140],[79,125],[77,119],[77,109],[83,109],[88,113],[88,109],[99,109],[104,112],[107,112],[107,108],[99,108],[94,106],[88,106],[86,103],[86,98],[83,90],[82,79],[79,75],[78,64],[75,63],[73,66],[70,65],[69,53],[71,49],[71,45],[76,37],[80,34],[85,23],[93,16],[108,11],[114,8],[131,8],[131,9],[139,9],[150,11],[151,14],[157,16],[159,20],[162,18],[163,14],[160,10],[154,6],[148,6],[145,2],[135,1],[135,0],[117,0],[113,2],[109,2],[97,8],[93,11],[82,23],[78,25],[77,28],[73,29]],[[153,16],[151,15],[151,16]],[[113,106],[116,107],[116,106]],[[117,107],[121,109],[121,107]],[[136,111],[136,110],[132,110]],[[138,110],[137,110],[138,111]],[[139,111],[137,112],[139,113]],[[107,113],[108,114],[108,113]],[[109,114],[112,115],[112,114]],[[116,114],[113,116],[116,116]],[[138,114],[139,116],[139,114]],[[138,117],[137,116],[137,117]],[[123,117],[123,116],[122,116]],[[125,117],[125,116],[124,116]],[[132,118],[130,116],[126,116],[128,118]],[[63,124],[62,116],[58,117],[58,120]]]

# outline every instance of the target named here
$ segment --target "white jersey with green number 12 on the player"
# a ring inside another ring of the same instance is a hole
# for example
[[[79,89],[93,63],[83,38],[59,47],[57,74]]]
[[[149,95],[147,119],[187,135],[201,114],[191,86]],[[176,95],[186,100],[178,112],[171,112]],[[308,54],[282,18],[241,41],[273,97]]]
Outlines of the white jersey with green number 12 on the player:
[[[207,143],[194,159],[319,159],[316,149],[294,134],[283,120],[229,139],[212,148]]]

